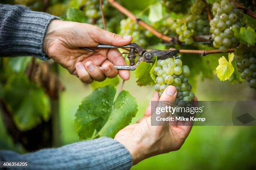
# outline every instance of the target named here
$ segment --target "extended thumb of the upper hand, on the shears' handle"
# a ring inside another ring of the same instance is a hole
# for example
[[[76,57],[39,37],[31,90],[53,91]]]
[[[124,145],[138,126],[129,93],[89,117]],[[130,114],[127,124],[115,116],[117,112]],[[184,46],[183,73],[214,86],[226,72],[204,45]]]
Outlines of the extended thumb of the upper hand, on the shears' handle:
[[[133,40],[131,35],[123,37],[121,35],[118,35],[106,30],[102,30],[100,28],[99,30],[97,30],[95,35],[97,35],[95,37],[95,41],[104,45],[123,46],[123,45],[130,44],[131,41]]]

